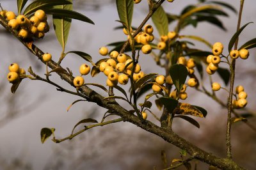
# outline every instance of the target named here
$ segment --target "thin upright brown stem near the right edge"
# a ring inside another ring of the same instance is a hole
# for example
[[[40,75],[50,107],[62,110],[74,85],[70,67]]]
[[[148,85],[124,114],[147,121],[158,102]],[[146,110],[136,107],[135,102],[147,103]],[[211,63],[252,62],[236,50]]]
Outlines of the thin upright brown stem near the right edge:
[[[239,10],[239,17],[237,21],[237,31],[240,28],[241,24],[241,17],[243,12],[243,4],[244,0],[240,0],[240,10]],[[238,38],[236,40],[234,49],[237,49]],[[234,89],[234,81],[235,81],[235,70],[236,70],[236,59],[231,60],[230,65],[230,89],[229,89],[229,97],[228,97],[228,116],[227,116],[227,131],[226,131],[226,150],[227,150],[227,158],[232,159],[232,151],[231,151],[231,114],[232,114],[232,97],[233,97],[233,89]]]

